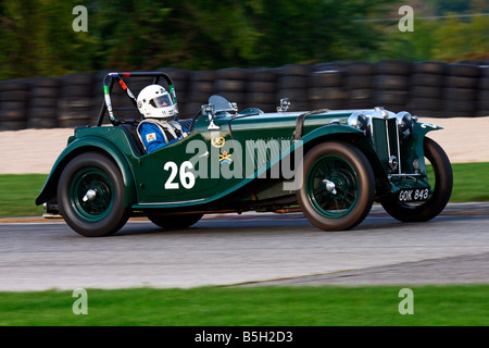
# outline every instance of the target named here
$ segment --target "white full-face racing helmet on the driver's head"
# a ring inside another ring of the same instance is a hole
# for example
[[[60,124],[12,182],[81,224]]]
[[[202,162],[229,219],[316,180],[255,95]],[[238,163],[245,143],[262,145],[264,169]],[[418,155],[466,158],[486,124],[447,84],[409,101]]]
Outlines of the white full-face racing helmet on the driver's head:
[[[176,113],[170,94],[160,85],[145,87],[138,96],[139,112],[146,119],[167,119]]]

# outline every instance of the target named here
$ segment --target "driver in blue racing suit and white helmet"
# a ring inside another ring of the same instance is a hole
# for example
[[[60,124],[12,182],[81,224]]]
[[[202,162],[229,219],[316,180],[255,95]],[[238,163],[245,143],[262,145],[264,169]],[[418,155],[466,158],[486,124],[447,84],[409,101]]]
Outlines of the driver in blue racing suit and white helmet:
[[[145,117],[138,125],[138,135],[147,153],[188,136],[189,130],[178,122],[166,121],[175,116],[176,105],[162,86],[145,87],[139,92],[137,103]]]

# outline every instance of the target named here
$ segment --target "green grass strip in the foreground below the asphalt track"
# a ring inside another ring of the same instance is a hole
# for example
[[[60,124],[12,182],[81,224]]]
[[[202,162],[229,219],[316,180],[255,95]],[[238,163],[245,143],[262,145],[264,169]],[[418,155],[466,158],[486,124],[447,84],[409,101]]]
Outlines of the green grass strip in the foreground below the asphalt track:
[[[0,293],[0,326],[487,326],[489,285],[87,289]]]

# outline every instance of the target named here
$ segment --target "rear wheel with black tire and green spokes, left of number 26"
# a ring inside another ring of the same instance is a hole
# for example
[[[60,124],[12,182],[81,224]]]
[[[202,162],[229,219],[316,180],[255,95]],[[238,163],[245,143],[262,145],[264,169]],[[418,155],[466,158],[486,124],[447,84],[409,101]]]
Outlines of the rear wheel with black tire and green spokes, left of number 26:
[[[93,190],[95,197],[88,196]],[[85,152],[64,167],[58,183],[60,213],[85,237],[109,236],[129,217],[123,176],[114,161],[100,152]]]

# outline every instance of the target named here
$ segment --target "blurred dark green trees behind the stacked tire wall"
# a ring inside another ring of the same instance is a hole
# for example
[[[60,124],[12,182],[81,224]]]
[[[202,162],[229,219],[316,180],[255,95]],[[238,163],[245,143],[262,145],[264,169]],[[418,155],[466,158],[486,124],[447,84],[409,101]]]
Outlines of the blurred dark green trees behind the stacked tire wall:
[[[429,3],[443,13],[484,11],[487,0],[468,5],[459,0]],[[88,9],[87,33],[72,28],[77,4]],[[487,55],[487,16],[416,22],[414,33],[402,35],[386,28],[392,23],[358,21],[391,13],[398,4],[394,0],[0,1],[0,78],[104,69],[215,70]]]

